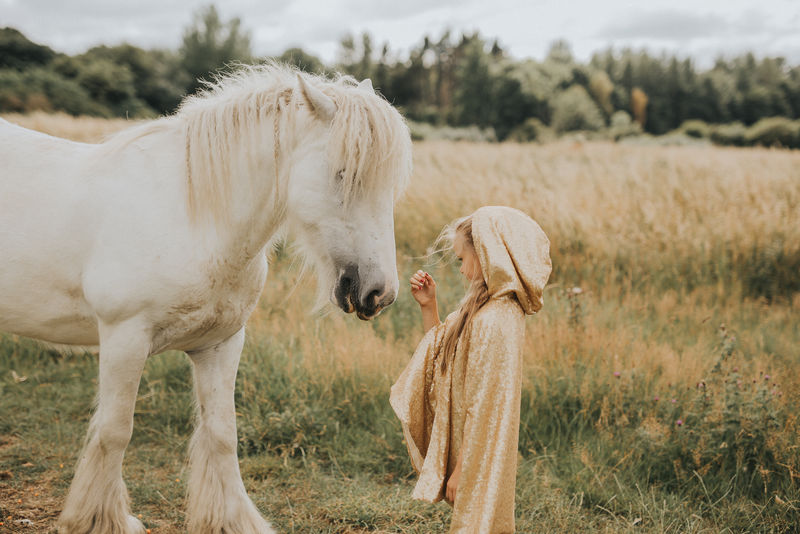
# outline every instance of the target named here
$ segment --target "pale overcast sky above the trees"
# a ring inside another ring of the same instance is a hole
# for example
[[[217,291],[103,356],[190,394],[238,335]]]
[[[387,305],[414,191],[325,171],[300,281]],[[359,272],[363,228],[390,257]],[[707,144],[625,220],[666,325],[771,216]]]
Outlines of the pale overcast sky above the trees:
[[[0,0],[0,27],[75,54],[129,42],[176,49],[207,0]],[[585,61],[613,45],[693,57],[701,67],[744,51],[800,64],[800,0],[225,0],[224,20],[240,17],[257,55],[299,46],[325,62],[343,35],[368,31],[376,48],[407,52],[445,29],[479,31],[518,59],[542,59],[566,39]]]

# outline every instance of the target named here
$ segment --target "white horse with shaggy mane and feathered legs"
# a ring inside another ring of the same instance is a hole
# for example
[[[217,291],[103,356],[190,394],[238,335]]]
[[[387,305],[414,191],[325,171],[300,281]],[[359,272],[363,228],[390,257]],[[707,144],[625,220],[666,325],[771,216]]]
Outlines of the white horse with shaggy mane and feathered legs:
[[[0,162],[0,331],[100,347],[60,531],[144,532],[122,457],[145,360],[177,349],[197,404],[189,532],[272,532],[241,480],[234,413],[266,252],[288,233],[361,319],[394,301],[393,205],[411,172],[400,114],[368,80],[269,64],[99,145],[0,120]]]

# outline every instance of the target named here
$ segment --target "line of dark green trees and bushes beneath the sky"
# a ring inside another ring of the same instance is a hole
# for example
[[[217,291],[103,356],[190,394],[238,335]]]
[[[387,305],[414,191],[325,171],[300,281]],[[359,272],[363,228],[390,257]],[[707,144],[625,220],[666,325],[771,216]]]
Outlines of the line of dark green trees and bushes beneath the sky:
[[[200,80],[235,62],[264,59],[253,54],[241,21],[223,21],[213,6],[195,15],[178,50],[125,44],[70,56],[4,28],[0,111],[169,114],[202,86]],[[680,130],[724,144],[774,138],[771,144],[800,147],[800,66],[781,57],[748,53],[719,58],[702,70],[688,58],[609,48],[582,63],[568,43],[557,41],[543,60],[520,60],[478,33],[445,32],[402,54],[388,44],[376,46],[365,33],[343,38],[333,65],[300,48],[276,59],[309,72],[371,78],[412,121],[477,127],[498,140]],[[762,130],[768,130],[766,138]],[[761,132],[758,139],[754,132]]]

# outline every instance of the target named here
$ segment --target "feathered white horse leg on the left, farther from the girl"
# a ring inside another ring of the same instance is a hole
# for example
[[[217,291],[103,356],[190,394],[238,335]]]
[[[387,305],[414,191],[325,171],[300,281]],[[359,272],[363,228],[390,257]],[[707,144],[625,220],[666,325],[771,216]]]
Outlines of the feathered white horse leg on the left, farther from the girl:
[[[101,325],[97,410],[58,520],[64,534],[145,532],[129,513],[122,457],[133,431],[136,394],[149,349],[149,339],[138,325]]]

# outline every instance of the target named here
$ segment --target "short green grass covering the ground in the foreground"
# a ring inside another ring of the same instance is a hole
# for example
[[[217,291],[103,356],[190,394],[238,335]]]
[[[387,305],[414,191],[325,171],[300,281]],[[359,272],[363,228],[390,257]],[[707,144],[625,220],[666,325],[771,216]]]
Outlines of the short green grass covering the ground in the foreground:
[[[554,293],[550,306],[543,322],[568,322],[566,299]],[[659,320],[655,309],[633,314],[613,302],[587,300],[585,306],[582,323],[572,327],[579,337],[597,335],[592,328],[602,332],[624,323],[630,325],[634,344],[644,339],[672,346],[706,344],[702,350],[722,362],[720,380],[709,381],[708,388],[716,388],[722,404],[730,405],[728,419],[735,411],[738,422],[718,418],[714,406],[719,403],[698,411],[697,391],[683,384],[665,388],[653,369],[621,366],[620,377],[614,377],[614,367],[599,368],[607,355],[591,340],[565,345],[562,356],[572,358],[571,363],[551,362],[550,372],[527,377],[518,531],[796,531],[800,491],[796,478],[779,465],[795,470],[800,465],[795,436],[787,434],[795,428],[793,416],[785,404],[758,404],[756,389],[737,390],[733,398],[723,382],[739,374],[732,371],[738,365],[734,361],[745,366],[754,358],[772,358],[776,365],[783,361],[777,352],[764,356],[762,345],[796,346],[791,314],[780,320],[781,313],[759,314],[751,309],[756,304],[743,304],[732,315],[740,339],[765,334],[752,345],[756,356],[726,346],[710,325]],[[409,314],[409,321],[416,319]],[[704,337],[704,330],[714,331],[713,337]],[[767,338],[776,340],[766,343]],[[570,356],[576,347],[579,354]],[[723,358],[728,350],[731,354]],[[330,369],[318,376],[304,364],[305,357],[287,336],[251,339],[242,358],[236,390],[239,453],[257,506],[281,532],[446,532],[446,505],[409,498],[414,475],[388,405],[391,376]],[[553,361],[559,361],[558,355]],[[16,381],[12,370],[25,380]],[[0,435],[5,441],[0,472],[11,474],[2,481],[3,496],[9,497],[9,504],[0,504],[3,516],[35,519],[31,514],[43,509],[49,515],[36,528],[49,531],[90,417],[96,372],[92,354],[59,355],[10,337],[0,342]],[[655,394],[659,402],[653,401]],[[773,410],[775,420],[758,434],[763,409]],[[679,417],[686,421],[681,428],[674,425]],[[124,471],[134,513],[142,514],[154,532],[182,528],[191,418],[188,358],[180,353],[151,358]],[[727,447],[719,449],[723,438]],[[720,457],[720,451],[727,456]],[[700,464],[695,465],[693,455],[701,457]],[[702,462],[712,468],[702,472]],[[750,473],[775,471],[768,480],[747,479],[746,468]],[[44,505],[30,488],[46,495]],[[16,503],[15,497],[23,502]]]

